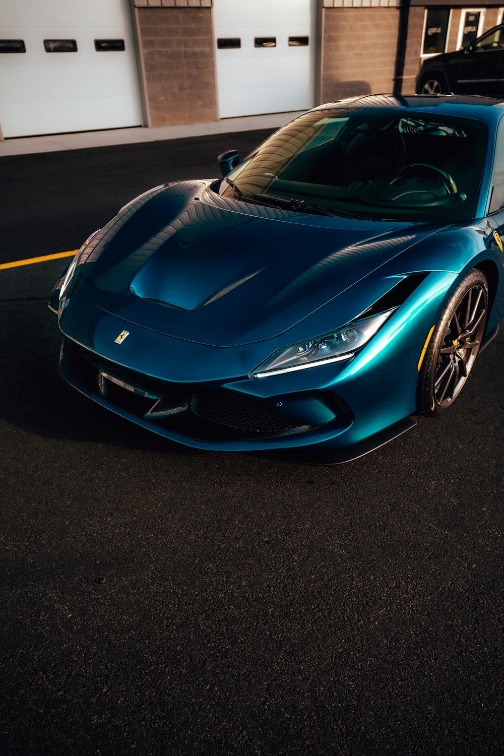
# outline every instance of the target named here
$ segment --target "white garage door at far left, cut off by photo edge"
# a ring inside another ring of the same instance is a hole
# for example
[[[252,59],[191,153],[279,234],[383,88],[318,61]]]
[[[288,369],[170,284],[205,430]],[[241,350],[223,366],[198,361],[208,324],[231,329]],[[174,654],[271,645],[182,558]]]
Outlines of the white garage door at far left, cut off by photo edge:
[[[141,125],[128,0],[0,6],[4,137]]]

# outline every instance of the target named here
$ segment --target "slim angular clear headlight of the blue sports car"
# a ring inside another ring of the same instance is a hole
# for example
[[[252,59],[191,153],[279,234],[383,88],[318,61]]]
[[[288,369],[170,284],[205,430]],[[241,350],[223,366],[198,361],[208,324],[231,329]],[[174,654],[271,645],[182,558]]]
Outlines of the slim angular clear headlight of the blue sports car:
[[[369,341],[371,336],[374,336],[395,309],[394,307],[373,315],[372,318],[354,321],[339,330],[317,336],[301,344],[279,349],[252,370],[250,377],[264,378],[280,373],[291,373],[293,370],[305,370],[306,367],[348,360],[354,356],[357,349]]]

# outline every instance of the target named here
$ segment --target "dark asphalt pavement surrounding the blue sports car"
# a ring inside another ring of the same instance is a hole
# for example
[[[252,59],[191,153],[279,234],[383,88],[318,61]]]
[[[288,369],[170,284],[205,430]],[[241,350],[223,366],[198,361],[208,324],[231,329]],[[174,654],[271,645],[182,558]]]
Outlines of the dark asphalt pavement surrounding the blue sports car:
[[[267,131],[0,161],[0,263]],[[59,376],[65,261],[0,270],[0,753],[502,754],[504,330],[343,466],[191,451]]]

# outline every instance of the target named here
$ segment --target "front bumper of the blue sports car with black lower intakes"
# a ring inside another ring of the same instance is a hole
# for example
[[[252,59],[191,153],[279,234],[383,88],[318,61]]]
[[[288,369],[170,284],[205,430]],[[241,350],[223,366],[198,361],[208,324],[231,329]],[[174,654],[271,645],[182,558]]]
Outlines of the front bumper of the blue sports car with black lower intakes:
[[[60,368],[68,383],[138,426],[193,448],[339,463],[415,425],[407,416],[414,411],[411,365],[418,349],[399,371],[378,340],[373,355],[368,350],[351,361],[253,380],[251,365],[274,352],[273,340],[230,349],[181,342],[108,314],[75,291],[72,306],[60,307],[60,328]],[[130,333],[117,344],[122,330]]]

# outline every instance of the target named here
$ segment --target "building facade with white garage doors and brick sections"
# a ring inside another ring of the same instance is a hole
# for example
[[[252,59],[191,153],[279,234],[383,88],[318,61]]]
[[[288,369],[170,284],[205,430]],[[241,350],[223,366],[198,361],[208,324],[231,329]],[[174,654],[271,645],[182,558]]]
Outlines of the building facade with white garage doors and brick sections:
[[[411,94],[425,57],[503,15],[503,0],[3,0],[0,129],[156,127]]]

